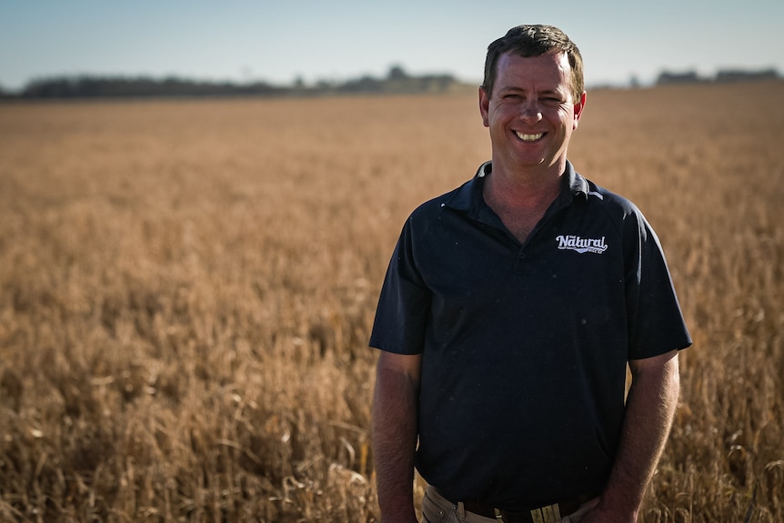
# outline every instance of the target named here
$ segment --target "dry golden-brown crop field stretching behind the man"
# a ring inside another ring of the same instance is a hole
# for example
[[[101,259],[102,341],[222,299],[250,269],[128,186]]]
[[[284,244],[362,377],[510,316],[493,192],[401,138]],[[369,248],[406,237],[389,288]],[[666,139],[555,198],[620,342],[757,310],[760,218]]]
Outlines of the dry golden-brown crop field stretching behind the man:
[[[695,341],[645,523],[784,520],[782,97],[597,91],[572,143]],[[376,519],[378,289],[488,154],[474,93],[0,105],[0,520]]]

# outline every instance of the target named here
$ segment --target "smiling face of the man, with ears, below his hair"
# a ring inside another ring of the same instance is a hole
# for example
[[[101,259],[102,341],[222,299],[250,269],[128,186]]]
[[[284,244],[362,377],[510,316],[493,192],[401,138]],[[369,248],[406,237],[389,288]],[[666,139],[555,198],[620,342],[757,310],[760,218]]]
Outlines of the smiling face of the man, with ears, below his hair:
[[[562,172],[586,99],[584,93],[573,99],[567,55],[500,55],[497,67],[493,92],[479,90],[493,160],[514,168],[557,167]]]

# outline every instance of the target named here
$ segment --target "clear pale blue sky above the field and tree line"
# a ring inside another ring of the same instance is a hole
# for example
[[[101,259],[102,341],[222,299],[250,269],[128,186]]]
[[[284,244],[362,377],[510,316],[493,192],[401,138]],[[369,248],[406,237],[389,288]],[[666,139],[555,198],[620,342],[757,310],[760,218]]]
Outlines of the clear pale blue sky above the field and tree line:
[[[487,45],[520,24],[563,29],[588,87],[665,70],[784,75],[780,0],[0,0],[0,88],[59,75],[313,84],[395,65],[478,85]]]

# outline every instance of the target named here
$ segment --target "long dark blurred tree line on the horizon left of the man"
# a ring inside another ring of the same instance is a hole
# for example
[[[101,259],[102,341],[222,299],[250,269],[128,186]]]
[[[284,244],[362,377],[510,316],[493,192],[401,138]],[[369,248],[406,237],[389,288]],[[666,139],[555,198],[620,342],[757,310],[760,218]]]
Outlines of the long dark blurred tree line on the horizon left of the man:
[[[416,94],[443,93],[461,85],[452,75],[408,75],[399,65],[384,78],[362,76],[346,82],[319,81],[306,85],[297,79],[293,85],[266,82],[235,84],[201,82],[184,78],[126,76],[55,76],[30,82],[18,94],[0,89],[0,96],[22,99],[47,98],[121,98],[121,97],[199,97],[199,96],[324,96],[340,94]]]

